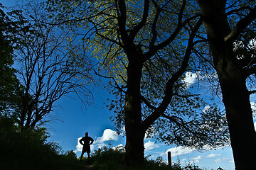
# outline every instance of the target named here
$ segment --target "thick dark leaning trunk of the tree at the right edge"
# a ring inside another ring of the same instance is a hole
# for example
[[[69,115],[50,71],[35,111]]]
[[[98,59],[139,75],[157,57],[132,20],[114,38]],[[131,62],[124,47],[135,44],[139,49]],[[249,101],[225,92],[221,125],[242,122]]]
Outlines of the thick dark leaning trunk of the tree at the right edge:
[[[247,76],[234,55],[233,41],[225,40],[231,31],[225,14],[225,1],[198,0],[198,4],[223,94],[235,169],[255,169],[256,133],[246,87]]]

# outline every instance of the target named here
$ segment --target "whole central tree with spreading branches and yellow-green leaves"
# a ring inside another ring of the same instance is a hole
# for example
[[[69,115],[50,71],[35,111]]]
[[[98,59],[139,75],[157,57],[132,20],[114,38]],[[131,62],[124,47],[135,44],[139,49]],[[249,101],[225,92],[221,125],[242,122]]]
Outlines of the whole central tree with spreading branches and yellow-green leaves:
[[[153,129],[168,144],[203,148],[228,142],[222,114],[215,107],[202,111],[205,103],[183,81],[186,71],[196,69],[188,63],[201,42],[196,33],[202,23],[187,3],[48,1],[59,23],[77,26],[99,60],[97,74],[109,77],[120,95],[110,108],[117,108],[117,125],[125,125],[129,166],[143,163],[144,137]]]

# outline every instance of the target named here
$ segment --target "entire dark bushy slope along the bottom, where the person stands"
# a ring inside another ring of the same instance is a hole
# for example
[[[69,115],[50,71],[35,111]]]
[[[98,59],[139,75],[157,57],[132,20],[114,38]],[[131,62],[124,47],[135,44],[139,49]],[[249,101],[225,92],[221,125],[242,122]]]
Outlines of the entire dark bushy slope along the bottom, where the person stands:
[[[90,160],[78,161],[73,151],[63,152],[54,142],[47,142],[45,128],[21,130],[10,118],[0,118],[1,170],[130,170],[123,165],[124,149],[103,147],[92,153]],[[161,157],[145,158],[137,170],[170,170]],[[198,166],[174,164],[172,170],[199,170]]]

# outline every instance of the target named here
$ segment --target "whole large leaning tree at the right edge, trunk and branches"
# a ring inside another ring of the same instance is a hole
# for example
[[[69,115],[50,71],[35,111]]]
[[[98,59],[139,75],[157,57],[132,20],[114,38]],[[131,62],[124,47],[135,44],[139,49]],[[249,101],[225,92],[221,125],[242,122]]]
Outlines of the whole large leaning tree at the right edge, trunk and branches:
[[[218,74],[235,169],[255,169],[256,133],[249,89],[255,85],[254,1],[198,0]]]

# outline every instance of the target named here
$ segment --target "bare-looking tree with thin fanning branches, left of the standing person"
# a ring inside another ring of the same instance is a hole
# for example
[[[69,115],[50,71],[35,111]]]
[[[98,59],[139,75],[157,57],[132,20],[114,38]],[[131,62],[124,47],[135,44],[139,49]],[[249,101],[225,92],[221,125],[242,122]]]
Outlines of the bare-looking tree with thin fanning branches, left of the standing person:
[[[30,30],[18,36],[22,43],[14,52],[18,65],[16,77],[22,85],[17,87],[21,98],[18,124],[25,129],[33,129],[38,123],[53,120],[49,115],[62,96],[76,93],[82,95],[83,102],[89,102],[92,97],[87,89],[90,84],[90,61],[85,57],[80,60],[83,68],[80,69],[74,60],[82,55],[82,51],[70,49],[72,41],[68,39],[69,32],[60,32],[56,26],[42,23],[48,18],[46,11],[41,11],[41,4],[29,6],[25,9],[30,15]],[[23,15],[26,13],[23,12]]]

